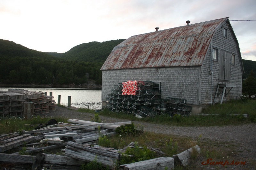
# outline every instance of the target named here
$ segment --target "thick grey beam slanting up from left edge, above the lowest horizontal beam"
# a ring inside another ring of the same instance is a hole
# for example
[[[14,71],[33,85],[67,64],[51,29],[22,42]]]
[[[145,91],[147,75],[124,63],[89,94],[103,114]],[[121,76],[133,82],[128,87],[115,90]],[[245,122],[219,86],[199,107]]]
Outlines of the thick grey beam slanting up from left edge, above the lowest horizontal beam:
[[[29,143],[31,141],[35,140],[35,136],[28,136],[23,139],[20,139],[18,141],[13,141],[10,143],[5,143],[3,145],[0,145],[0,152],[7,151],[9,149],[15,148],[17,146],[23,145],[24,143]]]

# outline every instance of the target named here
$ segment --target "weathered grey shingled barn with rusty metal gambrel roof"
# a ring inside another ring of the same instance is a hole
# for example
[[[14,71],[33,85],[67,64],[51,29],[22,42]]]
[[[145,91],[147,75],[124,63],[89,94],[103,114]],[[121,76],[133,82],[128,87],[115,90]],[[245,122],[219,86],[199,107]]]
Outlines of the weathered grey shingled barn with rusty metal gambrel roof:
[[[102,107],[123,81],[154,81],[161,97],[187,99],[198,113],[209,104],[242,94],[244,67],[234,30],[227,18],[141,35],[117,45],[102,70]]]

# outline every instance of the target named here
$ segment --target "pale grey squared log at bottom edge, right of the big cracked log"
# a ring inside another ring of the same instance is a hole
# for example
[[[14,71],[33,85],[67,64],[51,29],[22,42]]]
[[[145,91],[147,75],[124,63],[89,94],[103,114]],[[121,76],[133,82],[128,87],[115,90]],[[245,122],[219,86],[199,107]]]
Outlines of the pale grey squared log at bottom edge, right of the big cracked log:
[[[174,160],[172,157],[160,157],[149,160],[144,160],[140,162],[135,162],[131,164],[120,165],[120,170],[163,170],[165,167],[167,169],[174,168]]]

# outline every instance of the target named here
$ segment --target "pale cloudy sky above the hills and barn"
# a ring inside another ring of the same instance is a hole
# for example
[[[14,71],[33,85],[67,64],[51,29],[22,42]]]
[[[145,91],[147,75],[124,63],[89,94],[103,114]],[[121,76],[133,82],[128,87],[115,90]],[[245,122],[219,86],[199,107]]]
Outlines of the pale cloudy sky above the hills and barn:
[[[92,41],[229,17],[242,58],[256,61],[255,0],[0,0],[0,39],[63,53]]]

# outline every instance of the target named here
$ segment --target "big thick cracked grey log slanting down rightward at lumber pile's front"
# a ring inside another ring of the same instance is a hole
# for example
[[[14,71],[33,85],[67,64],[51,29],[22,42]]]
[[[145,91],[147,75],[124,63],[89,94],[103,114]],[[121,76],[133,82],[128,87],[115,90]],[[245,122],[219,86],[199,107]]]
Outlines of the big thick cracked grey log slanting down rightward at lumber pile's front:
[[[114,169],[120,160],[120,153],[68,142],[65,156],[91,162],[96,159],[103,166]]]

